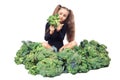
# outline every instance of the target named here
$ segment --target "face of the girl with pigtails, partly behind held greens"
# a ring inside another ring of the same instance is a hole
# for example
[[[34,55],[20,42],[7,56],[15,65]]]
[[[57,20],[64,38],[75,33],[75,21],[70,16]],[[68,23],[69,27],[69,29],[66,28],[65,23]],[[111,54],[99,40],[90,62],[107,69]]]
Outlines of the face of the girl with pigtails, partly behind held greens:
[[[61,8],[58,11],[58,15],[59,15],[59,18],[60,18],[60,22],[63,22],[67,19],[68,15],[69,15],[69,12],[68,12],[67,9]]]

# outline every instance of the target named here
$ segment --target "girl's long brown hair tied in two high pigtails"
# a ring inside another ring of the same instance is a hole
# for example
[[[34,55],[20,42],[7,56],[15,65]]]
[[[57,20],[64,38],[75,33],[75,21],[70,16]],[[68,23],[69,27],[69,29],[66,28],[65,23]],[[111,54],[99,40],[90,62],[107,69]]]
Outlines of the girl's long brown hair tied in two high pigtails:
[[[57,5],[54,12],[53,12],[53,15],[54,14],[57,14],[58,11],[61,9],[61,8],[64,8],[66,10],[69,11],[69,15],[67,17],[67,19],[65,20],[65,22],[67,23],[68,25],[68,28],[67,28],[67,40],[69,42],[73,41],[74,38],[75,38],[75,22],[74,22],[74,14],[72,12],[72,10],[64,7],[64,6],[61,6],[61,5]]]

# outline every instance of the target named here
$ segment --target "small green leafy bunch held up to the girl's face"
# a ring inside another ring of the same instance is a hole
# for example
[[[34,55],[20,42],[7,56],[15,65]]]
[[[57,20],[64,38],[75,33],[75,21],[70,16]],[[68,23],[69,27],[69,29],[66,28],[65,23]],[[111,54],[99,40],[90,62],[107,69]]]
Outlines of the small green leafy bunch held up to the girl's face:
[[[54,26],[55,28],[59,25],[59,15],[55,14],[55,15],[51,15],[49,16],[49,18],[47,19],[48,23],[52,26]]]

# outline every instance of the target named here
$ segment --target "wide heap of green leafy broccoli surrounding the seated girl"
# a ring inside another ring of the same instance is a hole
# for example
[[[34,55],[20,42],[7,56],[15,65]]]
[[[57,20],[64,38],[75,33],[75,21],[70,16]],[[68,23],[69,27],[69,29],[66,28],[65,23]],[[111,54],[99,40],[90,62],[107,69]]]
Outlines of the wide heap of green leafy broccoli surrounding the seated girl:
[[[54,77],[62,73],[86,73],[89,70],[108,67],[110,57],[107,47],[95,40],[83,40],[73,49],[53,52],[39,42],[22,41],[15,56],[16,64],[25,65],[28,73]]]

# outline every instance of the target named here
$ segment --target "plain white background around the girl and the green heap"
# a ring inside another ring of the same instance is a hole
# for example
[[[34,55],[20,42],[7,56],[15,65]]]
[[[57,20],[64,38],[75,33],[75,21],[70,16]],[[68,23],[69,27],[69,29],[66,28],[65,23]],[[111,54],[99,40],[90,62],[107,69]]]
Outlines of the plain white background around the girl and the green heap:
[[[73,10],[78,43],[94,39],[108,47],[109,67],[44,78],[14,63],[22,40],[44,41],[46,19],[58,4]],[[0,0],[0,80],[119,80],[119,27],[119,0]]]

